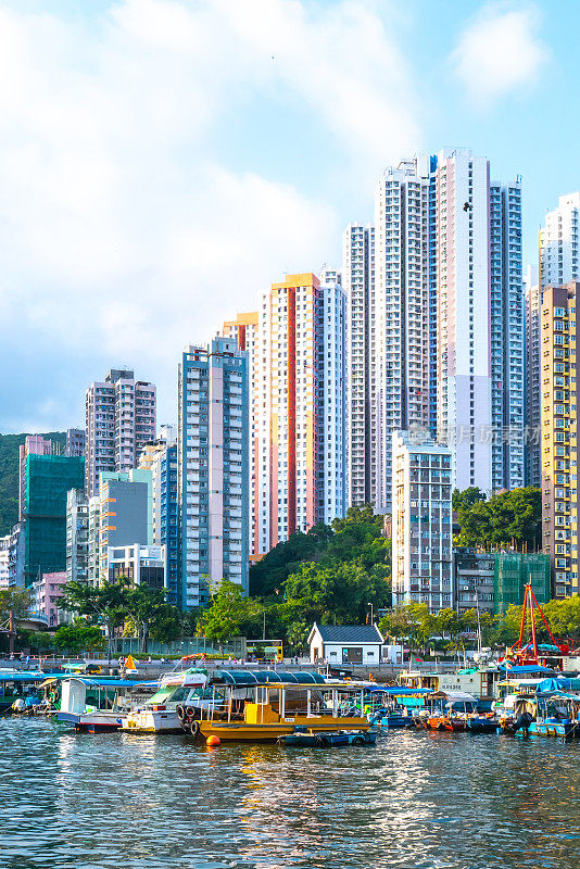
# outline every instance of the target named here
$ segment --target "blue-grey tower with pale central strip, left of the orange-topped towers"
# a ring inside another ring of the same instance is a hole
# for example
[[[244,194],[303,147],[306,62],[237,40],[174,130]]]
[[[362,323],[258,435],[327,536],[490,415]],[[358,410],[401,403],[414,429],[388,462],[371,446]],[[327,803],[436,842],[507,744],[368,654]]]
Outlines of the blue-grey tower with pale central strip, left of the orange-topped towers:
[[[248,590],[248,355],[231,338],[187,347],[179,363],[177,480],[181,605],[223,579]]]

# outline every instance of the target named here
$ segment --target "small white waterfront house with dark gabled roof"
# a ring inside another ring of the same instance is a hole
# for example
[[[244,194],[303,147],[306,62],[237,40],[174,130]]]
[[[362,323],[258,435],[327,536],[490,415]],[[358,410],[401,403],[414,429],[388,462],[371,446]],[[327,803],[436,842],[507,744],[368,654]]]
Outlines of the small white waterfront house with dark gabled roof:
[[[376,625],[317,625],[308,637],[311,664],[380,664],[384,640]]]

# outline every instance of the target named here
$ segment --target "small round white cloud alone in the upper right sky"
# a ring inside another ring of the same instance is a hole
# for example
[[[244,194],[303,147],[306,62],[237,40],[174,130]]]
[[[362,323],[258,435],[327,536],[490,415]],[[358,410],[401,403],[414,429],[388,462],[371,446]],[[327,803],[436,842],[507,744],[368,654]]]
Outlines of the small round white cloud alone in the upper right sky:
[[[452,63],[478,105],[490,105],[510,91],[535,84],[549,58],[538,35],[540,24],[533,3],[490,3],[468,23]]]

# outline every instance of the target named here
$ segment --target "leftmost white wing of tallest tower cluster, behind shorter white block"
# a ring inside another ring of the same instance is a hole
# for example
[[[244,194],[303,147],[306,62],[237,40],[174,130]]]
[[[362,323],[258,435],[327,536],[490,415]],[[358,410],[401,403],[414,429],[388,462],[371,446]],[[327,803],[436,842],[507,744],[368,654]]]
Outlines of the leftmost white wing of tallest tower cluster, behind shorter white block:
[[[391,509],[392,436],[429,429],[429,158],[402,161],[379,180],[375,199],[376,508]]]

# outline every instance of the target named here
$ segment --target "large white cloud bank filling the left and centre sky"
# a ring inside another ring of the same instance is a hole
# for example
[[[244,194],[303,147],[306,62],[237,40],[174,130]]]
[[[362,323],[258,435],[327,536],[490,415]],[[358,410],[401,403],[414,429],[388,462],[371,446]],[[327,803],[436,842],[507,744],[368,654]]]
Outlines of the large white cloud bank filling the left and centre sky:
[[[270,156],[260,100],[312,124],[352,185],[418,144],[413,76],[373,4],[119,0],[87,22],[0,0],[0,429],[79,423],[118,362],[175,416],[186,341],[338,255],[321,188],[216,156],[240,128]],[[35,351],[11,394],[7,363]]]

